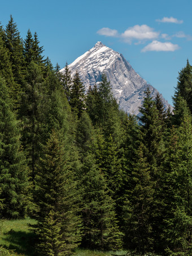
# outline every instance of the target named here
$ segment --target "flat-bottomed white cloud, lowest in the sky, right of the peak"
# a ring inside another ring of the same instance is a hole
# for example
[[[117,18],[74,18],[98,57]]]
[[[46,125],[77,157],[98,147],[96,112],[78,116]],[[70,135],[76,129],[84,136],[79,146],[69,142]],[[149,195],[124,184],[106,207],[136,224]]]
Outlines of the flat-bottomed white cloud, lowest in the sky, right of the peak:
[[[171,42],[152,41],[149,45],[145,46],[141,51],[175,51],[180,49],[178,45],[173,45]]]

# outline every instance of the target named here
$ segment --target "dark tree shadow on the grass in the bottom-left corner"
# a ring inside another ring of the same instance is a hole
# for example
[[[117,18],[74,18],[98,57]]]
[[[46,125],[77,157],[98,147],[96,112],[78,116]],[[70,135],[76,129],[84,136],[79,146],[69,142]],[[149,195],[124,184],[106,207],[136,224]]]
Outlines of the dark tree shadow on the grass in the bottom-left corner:
[[[24,231],[10,230],[4,233],[3,240],[9,243],[8,246],[4,246],[8,250],[14,250],[15,253],[25,256],[35,256],[35,244],[36,235],[34,233]]]

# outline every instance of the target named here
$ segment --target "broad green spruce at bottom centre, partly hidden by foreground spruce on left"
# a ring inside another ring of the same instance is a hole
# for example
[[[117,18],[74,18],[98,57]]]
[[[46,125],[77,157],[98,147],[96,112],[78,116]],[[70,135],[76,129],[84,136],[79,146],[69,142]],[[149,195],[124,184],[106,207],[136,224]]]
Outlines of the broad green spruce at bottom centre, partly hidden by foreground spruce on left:
[[[84,157],[82,171],[81,244],[90,249],[119,249],[122,235],[117,226],[114,201],[92,154]]]

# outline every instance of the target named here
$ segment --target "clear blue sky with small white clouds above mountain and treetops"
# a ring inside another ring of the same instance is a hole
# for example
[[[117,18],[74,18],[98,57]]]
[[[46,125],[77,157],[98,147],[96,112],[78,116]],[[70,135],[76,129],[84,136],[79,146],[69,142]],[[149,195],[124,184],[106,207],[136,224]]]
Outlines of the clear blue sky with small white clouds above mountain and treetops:
[[[191,0],[9,0],[0,21],[13,16],[21,37],[37,32],[45,56],[63,68],[97,41],[122,53],[172,103],[181,68],[192,64]]]

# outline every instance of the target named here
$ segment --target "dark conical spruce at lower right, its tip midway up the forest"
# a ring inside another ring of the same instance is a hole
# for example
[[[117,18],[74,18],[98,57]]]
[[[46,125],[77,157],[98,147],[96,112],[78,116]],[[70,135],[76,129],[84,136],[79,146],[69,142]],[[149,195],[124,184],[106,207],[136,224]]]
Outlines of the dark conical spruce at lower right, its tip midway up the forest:
[[[152,250],[154,242],[151,223],[154,183],[151,179],[149,163],[143,155],[143,148],[141,142],[132,171],[133,189],[129,192],[125,205],[124,227],[125,243],[142,255]]]

